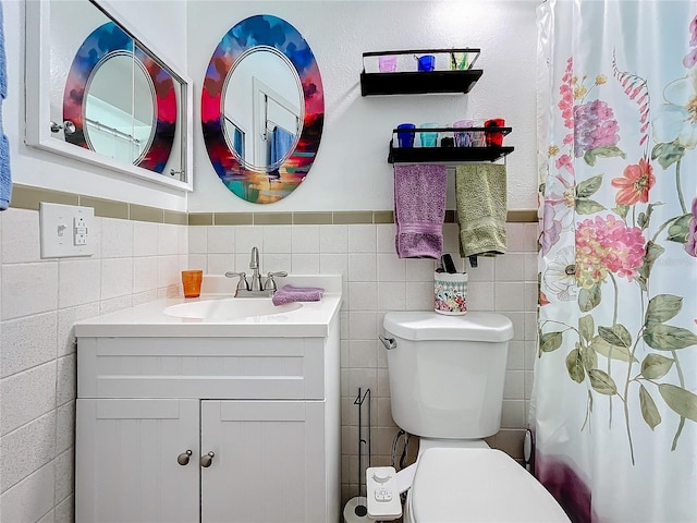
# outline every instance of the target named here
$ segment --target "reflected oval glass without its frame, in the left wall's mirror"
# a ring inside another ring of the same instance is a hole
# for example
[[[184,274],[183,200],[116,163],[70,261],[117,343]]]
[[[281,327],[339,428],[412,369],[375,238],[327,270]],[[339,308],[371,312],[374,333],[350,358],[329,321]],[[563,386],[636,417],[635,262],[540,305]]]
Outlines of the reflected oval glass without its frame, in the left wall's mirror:
[[[124,78],[132,86],[124,89]],[[84,133],[89,148],[129,163],[139,163],[155,135],[155,90],[133,54],[107,56],[93,70],[84,100]]]

